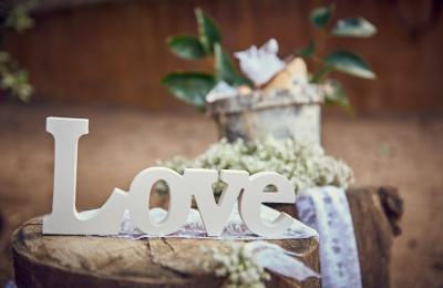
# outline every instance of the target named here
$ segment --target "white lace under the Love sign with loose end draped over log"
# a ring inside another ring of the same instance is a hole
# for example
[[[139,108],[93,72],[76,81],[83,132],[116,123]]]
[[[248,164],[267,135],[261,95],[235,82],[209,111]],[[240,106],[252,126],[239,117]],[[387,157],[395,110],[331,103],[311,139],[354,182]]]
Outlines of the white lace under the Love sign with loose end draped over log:
[[[261,267],[268,270],[279,274],[299,281],[302,281],[309,277],[320,277],[319,274],[313,271],[311,268],[306,266],[302,261],[298,260],[293,256],[298,256],[292,251],[288,251],[280,246],[271,243],[264,241],[264,239],[302,239],[316,237],[318,233],[302,224],[301,222],[293,219],[292,226],[278,238],[260,237],[253,234],[246,225],[243,223],[238,213],[237,205],[233,209],[228,224],[226,225],[222,236],[209,237],[206,235],[205,226],[203,225],[202,217],[196,209],[192,209],[186,224],[177,233],[168,235],[166,237],[175,238],[210,238],[218,240],[256,240],[245,244],[248,249],[253,251],[255,261]],[[278,217],[279,212],[262,205],[261,217],[265,220],[274,220]],[[162,208],[150,209],[150,217],[153,222],[161,222],[167,212]],[[142,239],[148,237],[156,237],[144,234],[137,229],[134,223],[131,220],[131,215],[125,212],[122,230],[120,237],[126,237],[131,239]]]

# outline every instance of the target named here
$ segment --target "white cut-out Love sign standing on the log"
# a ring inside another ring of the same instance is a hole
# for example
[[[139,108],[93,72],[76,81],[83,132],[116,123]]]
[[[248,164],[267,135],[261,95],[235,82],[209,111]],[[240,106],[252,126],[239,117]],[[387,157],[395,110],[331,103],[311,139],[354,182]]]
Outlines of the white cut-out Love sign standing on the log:
[[[227,184],[218,203],[212,185],[218,181],[214,169],[187,168],[184,175],[165,167],[150,167],[140,172],[127,192],[114,188],[105,204],[94,210],[79,213],[75,208],[75,182],[79,138],[87,134],[85,119],[48,117],[47,131],[55,141],[54,192],[52,213],[43,218],[43,234],[55,235],[116,235],[125,210],[137,228],[146,234],[165,236],[177,232],[189,214],[195,197],[208,236],[219,236],[234,205],[238,205],[246,226],[260,236],[279,236],[293,223],[285,213],[272,222],[260,218],[262,203],[295,204],[290,182],[275,172],[249,176],[245,171],[224,169],[219,179]],[[150,218],[150,193],[155,183],[164,181],[169,187],[169,209],[164,219]],[[265,192],[274,185],[276,192]],[[239,200],[237,200],[239,198]]]

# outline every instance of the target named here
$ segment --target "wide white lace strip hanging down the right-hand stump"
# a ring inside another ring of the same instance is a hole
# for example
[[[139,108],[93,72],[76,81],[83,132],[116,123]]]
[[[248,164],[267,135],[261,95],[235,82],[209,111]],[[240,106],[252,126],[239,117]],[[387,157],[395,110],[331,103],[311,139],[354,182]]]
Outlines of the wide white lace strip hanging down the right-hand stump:
[[[343,188],[316,187],[297,198],[300,220],[320,234],[321,287],[360,288],[356,235]]]

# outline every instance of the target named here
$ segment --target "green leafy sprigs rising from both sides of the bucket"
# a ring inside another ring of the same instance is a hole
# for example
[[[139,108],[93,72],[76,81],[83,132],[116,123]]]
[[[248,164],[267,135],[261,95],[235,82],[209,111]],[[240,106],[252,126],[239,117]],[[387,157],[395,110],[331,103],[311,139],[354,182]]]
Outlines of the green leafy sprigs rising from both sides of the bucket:
[[[321,38],[312,38],[308,45],[297,50],[295,54],[318,64],[319,69],[311,74],[310,82],[329,86],[326,103],[337,104],[351,111],[352,107],[342,85],[337,80],[328,79],[329,74],[341,72],[362,79],[375,79],[375,73],[361,56],[353,52],[339,49],[322,53],[324,47],[322,41],[330,37],[369,38],[377,33],[377,28],[362,17],[344,18],[331,23],[334,10],[336,6],[330,4],[316,8],[310,12],[310,21],[316,29],[320,30]],[[217,82],[225,81],[233,86],[244,84],[251,86],[251,83],[236,71],[230,53],[223,47],[217,22],[199,8],[195,10],[195,17],[198,35],[174,35],[167,40],[167,44],[169,50],[181,59],[209,59],[213,73],[175,72],[164,78],[163,83],[176,97],[198,109],[204,109],[205,96]]]

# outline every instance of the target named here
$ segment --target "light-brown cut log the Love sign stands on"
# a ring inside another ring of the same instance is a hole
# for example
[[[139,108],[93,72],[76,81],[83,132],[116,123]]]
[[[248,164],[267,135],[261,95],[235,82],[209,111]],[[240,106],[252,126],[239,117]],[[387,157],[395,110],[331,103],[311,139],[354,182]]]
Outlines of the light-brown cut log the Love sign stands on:
[[[41,218],[24,223],[12,235],[16,281],[19,287],[219,287],[223,278],[205,271],[198,260],[202,247],[219,240],[47,236]],[[298,253],[319,270],[316,238],[274,240]],[[318,279],[302,282],[272,275],[268,287],[319,287]]]

